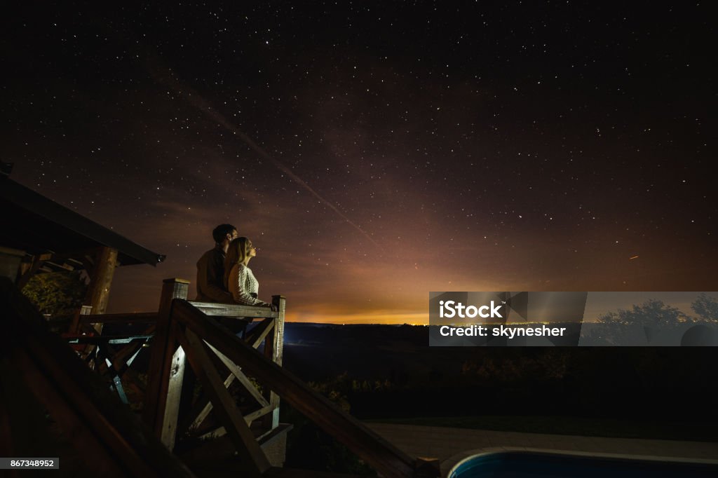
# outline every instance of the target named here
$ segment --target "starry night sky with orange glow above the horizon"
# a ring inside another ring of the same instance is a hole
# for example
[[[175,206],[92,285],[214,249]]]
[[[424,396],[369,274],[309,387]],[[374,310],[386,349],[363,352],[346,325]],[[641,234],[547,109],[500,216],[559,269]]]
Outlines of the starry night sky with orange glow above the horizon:
[[[294,321],[426,323],[429,291],[714,291],[714,15],[672,3],[20,7],[0,157],[167,255],[119,268],[110,312],[194,282],[223,222]]]

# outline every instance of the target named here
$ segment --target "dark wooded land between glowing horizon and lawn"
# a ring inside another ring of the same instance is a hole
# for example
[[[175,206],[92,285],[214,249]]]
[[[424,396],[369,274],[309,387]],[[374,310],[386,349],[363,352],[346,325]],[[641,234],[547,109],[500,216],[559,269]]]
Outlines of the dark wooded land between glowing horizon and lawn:
[[[360,418],[718,423],[718,347],[429,347],[421,326],[286,324],[284,366],[330,383]]]

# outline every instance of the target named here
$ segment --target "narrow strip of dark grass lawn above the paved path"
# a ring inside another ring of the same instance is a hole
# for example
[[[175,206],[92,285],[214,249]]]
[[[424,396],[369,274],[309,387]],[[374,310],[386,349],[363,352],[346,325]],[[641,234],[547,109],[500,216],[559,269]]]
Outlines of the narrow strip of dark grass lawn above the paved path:
[[[582,418],[567,416],[452,416],[381,418],[365,420],[376,423],[445,426],[475,430],[518,431],[535,434],[605,436],[616,438],[718,441],[715,426],[696,423],[631,421],[617,418]]]

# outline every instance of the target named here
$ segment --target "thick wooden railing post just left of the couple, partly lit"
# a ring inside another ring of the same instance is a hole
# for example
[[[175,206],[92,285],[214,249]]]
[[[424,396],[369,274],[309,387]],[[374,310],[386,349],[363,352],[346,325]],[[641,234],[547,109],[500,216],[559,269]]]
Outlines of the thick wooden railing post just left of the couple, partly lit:
[[[144,396],[144,421],[170,450],[177,434],[177,413],[185,377],[185,351],[177,347],[172,299],[187,299],[189,286],[190,281],[181,278],[164,279],[162,283],[157,332],[152,341]]]

